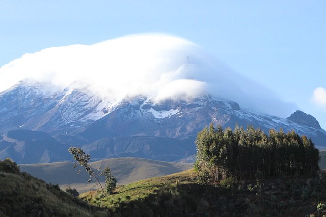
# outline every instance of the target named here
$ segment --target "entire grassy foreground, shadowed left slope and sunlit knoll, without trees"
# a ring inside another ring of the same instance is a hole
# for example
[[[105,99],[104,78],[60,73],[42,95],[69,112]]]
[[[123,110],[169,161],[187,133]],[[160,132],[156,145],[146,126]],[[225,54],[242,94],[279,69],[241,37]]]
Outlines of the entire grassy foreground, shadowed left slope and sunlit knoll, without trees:
[[[1,163],[1,162],[0,162]],[[163,163],[162,163],[163,164]],[[191,169],[153,177],[116,189],[112,195],[90,191],[80,201],[17,167],[0,164],[0,216],[323,216],[326,178],[218,185],[197,183]],[[4,170],[9,168],[10,171]],[[14,168],[14,169],[11,169]],[[16,168],[16,169],[15,169]],[[88,204],[85,203],[88,202]]]

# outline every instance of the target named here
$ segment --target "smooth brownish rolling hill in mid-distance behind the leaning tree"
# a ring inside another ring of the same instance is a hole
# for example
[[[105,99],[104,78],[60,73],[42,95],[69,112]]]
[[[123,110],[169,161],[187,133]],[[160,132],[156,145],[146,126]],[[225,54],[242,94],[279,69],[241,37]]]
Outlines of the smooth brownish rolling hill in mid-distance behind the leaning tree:
[[[118,185],[125,185],[142,179],[164,176],[188,170],[193,164],[172,163],[141,158],[111,158],[90,163],[93,168],[109,166],[117,178]],[[87,184],[88,174],[84,168],[73,168],[72,162],[57,162],[46,164],[21,164],[21,171],[45,180],[47,183],[58,184],[65,189],[68,186],[79,192],[97,189],[94,183]],[[77,170],[81,172],[77,174]],[[104,184],[104,179],[102,178]],[[103,185],[104,186],[104,185]]]

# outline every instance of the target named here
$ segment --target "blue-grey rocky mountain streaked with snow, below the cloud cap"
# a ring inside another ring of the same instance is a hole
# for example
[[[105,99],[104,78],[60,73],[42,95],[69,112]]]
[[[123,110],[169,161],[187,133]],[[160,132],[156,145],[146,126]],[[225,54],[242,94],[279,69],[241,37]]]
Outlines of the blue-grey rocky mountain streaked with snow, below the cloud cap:
[[[209,94],[193,99],[148,96],[102,99],[78,88],[48,91],[24,82],[0,93],[0,159],[19,164],[71,160],[67,149],[83,148],[93,160],[141,157],[193,162],[197,133],[212,122],[236,123],[268,133],[294,130],[326,148],[326,131],[311,115],[296,111],[283,119],[242,110],[238,103]]]

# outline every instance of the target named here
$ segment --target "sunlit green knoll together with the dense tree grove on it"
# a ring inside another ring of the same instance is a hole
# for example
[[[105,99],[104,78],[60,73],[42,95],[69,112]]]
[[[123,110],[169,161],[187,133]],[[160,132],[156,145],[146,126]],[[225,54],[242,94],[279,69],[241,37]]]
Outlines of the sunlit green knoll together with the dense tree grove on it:
[[[324,214],[319,152],[294,131],[212,125],[198,134],[195,169],[135,182],[114,195],[81,197],[117,216],[306,216]],[[197,179],[198,178],[198,179]],[[204,183],[204,184],[199,184]]]

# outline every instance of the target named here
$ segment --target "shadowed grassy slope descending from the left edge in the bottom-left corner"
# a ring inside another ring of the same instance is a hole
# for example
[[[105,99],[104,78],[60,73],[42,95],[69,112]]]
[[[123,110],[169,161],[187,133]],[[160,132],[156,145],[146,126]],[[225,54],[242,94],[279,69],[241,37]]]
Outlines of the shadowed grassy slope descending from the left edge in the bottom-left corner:
[[[107,216],[106,211],[0,161],[0,216]]]

